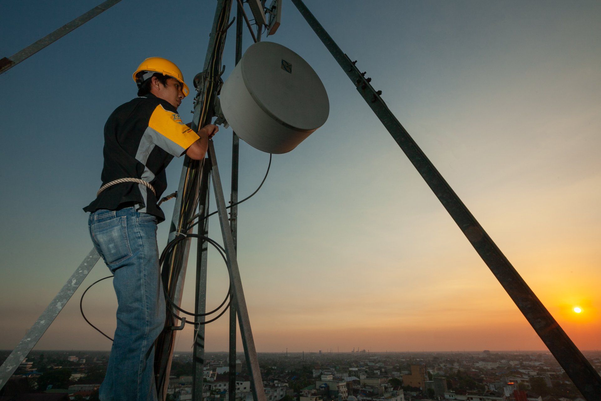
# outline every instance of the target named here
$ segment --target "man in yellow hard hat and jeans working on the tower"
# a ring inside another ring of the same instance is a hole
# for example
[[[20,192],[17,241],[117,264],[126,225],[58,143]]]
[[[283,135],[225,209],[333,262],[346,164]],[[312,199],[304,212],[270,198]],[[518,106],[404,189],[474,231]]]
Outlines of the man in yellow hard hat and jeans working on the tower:
[[[105,125],[102,183],[84,208],[94,246],[115,275],[117,329],[102,401],[157,400],[154,341],[165,325],[156,225],[165,220],[157,206],[167,182],[165,168],[184,153],[204,158],[218,127],[195,133],[177,114],[188,95],[182,72],[160,57],[147,58],[133,79],[138,97],[119,106]]]

